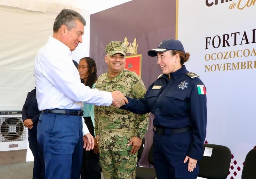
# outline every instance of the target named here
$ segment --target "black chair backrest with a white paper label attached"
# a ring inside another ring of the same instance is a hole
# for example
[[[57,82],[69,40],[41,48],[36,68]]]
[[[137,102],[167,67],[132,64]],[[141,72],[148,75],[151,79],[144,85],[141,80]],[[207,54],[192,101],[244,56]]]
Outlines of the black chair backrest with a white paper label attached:
[[[208,179],[225,179],[229,173],[231,162],[231,151],[226,146],[215,144],[204,144],[205,147],[212,148],[212,156],[203,156],[199,163],[199,175]]]

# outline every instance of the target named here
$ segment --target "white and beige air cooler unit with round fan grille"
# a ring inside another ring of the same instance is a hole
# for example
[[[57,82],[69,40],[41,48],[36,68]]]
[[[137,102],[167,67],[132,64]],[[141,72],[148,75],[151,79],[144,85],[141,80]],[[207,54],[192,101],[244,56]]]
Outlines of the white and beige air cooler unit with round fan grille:
[[[0,165],[26,161],[28,129],[22,111],[0,111]]]

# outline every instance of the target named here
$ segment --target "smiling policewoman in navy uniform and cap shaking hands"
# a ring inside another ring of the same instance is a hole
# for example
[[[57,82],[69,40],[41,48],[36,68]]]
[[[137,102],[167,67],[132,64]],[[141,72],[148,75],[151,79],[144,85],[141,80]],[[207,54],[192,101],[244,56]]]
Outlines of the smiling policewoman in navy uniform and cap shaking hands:
[[[128,98],[121,109],[155,115],[153,137],[157,179],[195,179],[206,135],[206,88],[198,75],[183,65],[188,61],[179,40],[165,39],[156,49],[163,74],[148,88],[145,98]]]

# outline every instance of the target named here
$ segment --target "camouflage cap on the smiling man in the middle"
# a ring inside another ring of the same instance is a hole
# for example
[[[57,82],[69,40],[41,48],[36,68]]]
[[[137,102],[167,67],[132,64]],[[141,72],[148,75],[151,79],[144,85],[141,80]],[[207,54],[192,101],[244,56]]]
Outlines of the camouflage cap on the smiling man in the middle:
[[[105,51],[111,56],[117,53],[123,54],[125,56],[126,49],[127,46],[124,44],[124,42],[111,41],[108,45],[106,45]]]

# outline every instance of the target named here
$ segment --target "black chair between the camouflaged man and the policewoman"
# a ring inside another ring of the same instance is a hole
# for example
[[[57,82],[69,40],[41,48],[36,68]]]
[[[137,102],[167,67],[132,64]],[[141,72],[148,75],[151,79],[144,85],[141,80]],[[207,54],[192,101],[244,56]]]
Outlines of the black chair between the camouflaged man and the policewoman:
[[[153,143],[148,152],[149,167],[153,165]],[[155,168],[136,167],[136,179],[155,179],[156,170]]]

